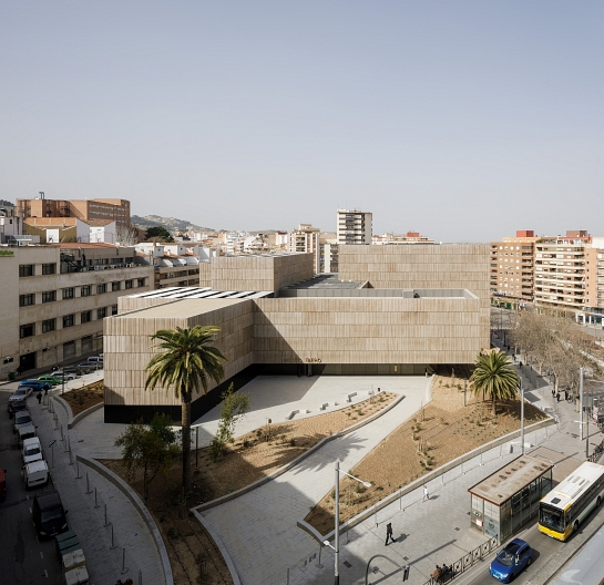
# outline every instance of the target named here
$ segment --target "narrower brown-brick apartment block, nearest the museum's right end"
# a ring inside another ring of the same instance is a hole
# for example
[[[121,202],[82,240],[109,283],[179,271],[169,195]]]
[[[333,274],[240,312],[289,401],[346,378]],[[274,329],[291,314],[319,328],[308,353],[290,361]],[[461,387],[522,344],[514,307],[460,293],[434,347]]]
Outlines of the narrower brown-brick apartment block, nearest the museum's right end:
[[[490,244],[490,288],[495,302],[516,307],[534,300],[535,243],[532,229],[519,229],[515,237]]]

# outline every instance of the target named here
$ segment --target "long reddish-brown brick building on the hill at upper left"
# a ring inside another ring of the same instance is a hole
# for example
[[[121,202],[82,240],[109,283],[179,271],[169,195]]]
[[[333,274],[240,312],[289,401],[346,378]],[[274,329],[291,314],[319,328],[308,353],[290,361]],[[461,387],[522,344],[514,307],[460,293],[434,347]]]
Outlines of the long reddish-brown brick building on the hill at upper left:
[[[17,199],[17,215],[28,217],[76,217],[82,222],[110,219],[119,227],[130,227],[130,202],[126,199]]]

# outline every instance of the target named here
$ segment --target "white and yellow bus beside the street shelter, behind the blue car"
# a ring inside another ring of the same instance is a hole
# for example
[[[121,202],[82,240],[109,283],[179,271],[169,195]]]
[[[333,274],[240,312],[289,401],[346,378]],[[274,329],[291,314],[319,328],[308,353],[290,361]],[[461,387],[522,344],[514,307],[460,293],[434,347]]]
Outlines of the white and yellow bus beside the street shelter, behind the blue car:
[[[586,461],[539,503],[539,530],[566,541],[604,500],[604,465]]]

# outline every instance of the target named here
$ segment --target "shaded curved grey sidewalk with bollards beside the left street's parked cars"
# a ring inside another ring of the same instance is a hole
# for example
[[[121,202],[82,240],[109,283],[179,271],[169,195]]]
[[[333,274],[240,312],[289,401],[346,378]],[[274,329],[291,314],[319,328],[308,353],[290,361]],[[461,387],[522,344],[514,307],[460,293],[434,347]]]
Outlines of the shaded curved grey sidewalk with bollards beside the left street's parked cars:
[[[66,429],[66,413],[54,404],[59,423]],[[80,465],[82,479],[76,479],[76,465],[70,465],[69,453],[64,451],[60,430],[54,430],[52,414],[47,407],[40,407],[35,400],[30,400],[30,411],[38,427],[38,434],[44,447],[44,456],[49,465],[54,463],[51,475],[54,485],[66,510],[70,527],[75,531],[90,573],[91,585],[114,585],[119,578],[131,577],[139,583],[139,571],[142,571],[144,585],[163,585],[165,583],[160,555],[149,530],[130,500],[111,482]],[[65,433],[66,434],[66,433]],[[49,441],[57,440],[52,456]],[[72,461],[75,454],[84,453],[83,443],[79,442],[70,431]],[[90,438],[90,441],[94,438]],[[99,507],[94,507],[94,493],[85,494],[88,470],[92,490],[96,489]],[[108,506],[110,526],[104,526],[104,504]],[[111,530],[116,545],[111,550]],[[122,575],[122,554],[125,548],[125,567]]]

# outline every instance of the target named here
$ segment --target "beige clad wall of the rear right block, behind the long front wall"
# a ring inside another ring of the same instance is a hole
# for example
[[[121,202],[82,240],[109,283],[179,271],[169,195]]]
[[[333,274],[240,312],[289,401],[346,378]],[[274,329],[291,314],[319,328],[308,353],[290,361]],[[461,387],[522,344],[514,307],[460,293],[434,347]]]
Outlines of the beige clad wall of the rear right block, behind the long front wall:
[[[488,244],[340,246],[339,278],[373,288],[465,288],[481,300],[482,347],[489,347]]]

